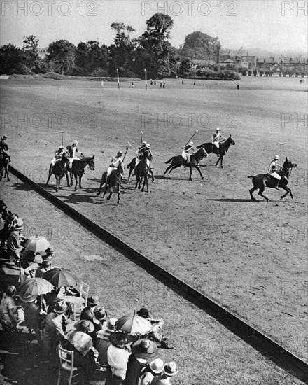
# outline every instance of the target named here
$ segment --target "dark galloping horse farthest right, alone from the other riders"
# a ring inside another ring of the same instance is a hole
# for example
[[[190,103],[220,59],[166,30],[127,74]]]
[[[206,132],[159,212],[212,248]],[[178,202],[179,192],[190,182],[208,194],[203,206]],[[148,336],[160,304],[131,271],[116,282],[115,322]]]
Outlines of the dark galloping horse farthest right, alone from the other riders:
[[[283,190],[286,190],[286,194],[281,195],[280,199],[282,200],[288,193],[290,193],[290,197],[293,199],[293,194],[290,188],[287,187],[288,184],[288,178],[290,177],[290,174],[292,172],[292,169],[297,167],[296,163],[290,162],[288,158],[286,158],[285,162],[282,165],[282,170],[279,171],[277,174],[281,176],[281,179],[279,181],[279,187],[283,188]],[[267,202],[269,202],[269,199],[263,195],[265,187],[268,188],[275,188],[276,181],[274,181],[274,177],[270,174],[258,174],[255,176],[248,175],[248,178],[252,178],[253,182],[253,188],[249,190],[249,193],[251,195],[251,200],[255,201],[255,197],[253,197],[253,191],[259,189],[258,195],[265,198]]]

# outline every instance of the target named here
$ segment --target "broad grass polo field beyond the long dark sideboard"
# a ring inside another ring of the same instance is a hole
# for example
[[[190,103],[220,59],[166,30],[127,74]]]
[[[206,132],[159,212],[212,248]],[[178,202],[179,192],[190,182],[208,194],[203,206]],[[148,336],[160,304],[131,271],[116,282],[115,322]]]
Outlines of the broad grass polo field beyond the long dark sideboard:
[[[1,81],[1,132],[12,165],[45,183],[59,131],[65,145],[78,139],[86,156],[95,155],[96,169],[77,193],[63,182],[57,195],[64,202],[308,360],[307,84],[242,78],[237,90],[236,82],[165,83],[148,90],[122,83],[118,90],[114,83],[102,89],[94,82]],[[181,153],[195,130],[201,144],[219,126],[236,142],[224,169],[209,157],[203,182],[196,170],[189,182],[183,168],[162,178],[164,162]],[[127,141],[133,148],[127,162],[133,158],[140,130],[155,157],[151,192],[135,192],[132,181],[123,183],[120,205],[116,197],[103,201],[96,196],[102,172]],[[267,172],[279,142],[283,158],[298,164],[289,183],[294,200],[265,190],[271,202],[251,202],[247,175]]]

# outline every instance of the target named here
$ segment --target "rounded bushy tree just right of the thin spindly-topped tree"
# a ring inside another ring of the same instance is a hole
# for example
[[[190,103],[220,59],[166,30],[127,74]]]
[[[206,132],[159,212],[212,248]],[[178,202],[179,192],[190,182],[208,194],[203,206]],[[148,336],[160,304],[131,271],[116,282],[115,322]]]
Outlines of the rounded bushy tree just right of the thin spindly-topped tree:
[[[55,41],[49,45],[47,52],[47,60],[56,72],[64,75],[64,72],[73,68],[76,52],[73,43],[69,43],[67,40]]]

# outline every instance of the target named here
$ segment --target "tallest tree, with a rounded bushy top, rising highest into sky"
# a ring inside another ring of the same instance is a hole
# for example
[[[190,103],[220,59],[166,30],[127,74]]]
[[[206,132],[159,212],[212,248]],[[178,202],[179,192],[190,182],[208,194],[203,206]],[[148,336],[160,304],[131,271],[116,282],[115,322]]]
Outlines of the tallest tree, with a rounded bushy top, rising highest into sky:
[[[136,71],[144,76],[144,69],[151,78],[166,78],[174,73],[176,55],[167,41],[173,20],[169,15],[156,13],[147,22],[147,29],[139,38],[136,52]],[[172,63],[172,66],[171,66]]]

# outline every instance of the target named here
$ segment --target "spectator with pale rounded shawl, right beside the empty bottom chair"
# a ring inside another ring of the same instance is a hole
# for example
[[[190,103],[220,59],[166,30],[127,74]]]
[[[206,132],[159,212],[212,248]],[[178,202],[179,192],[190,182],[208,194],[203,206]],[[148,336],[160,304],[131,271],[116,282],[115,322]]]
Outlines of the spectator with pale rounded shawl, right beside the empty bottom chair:
[[[74,352],[73,365],[83,370],[85,385],[90,384],[91,373],[95,370],[95,358],[92,338],[90,334],[94,330],[91,321],[78,321],[75,329],[65,336],[66,349]]]

